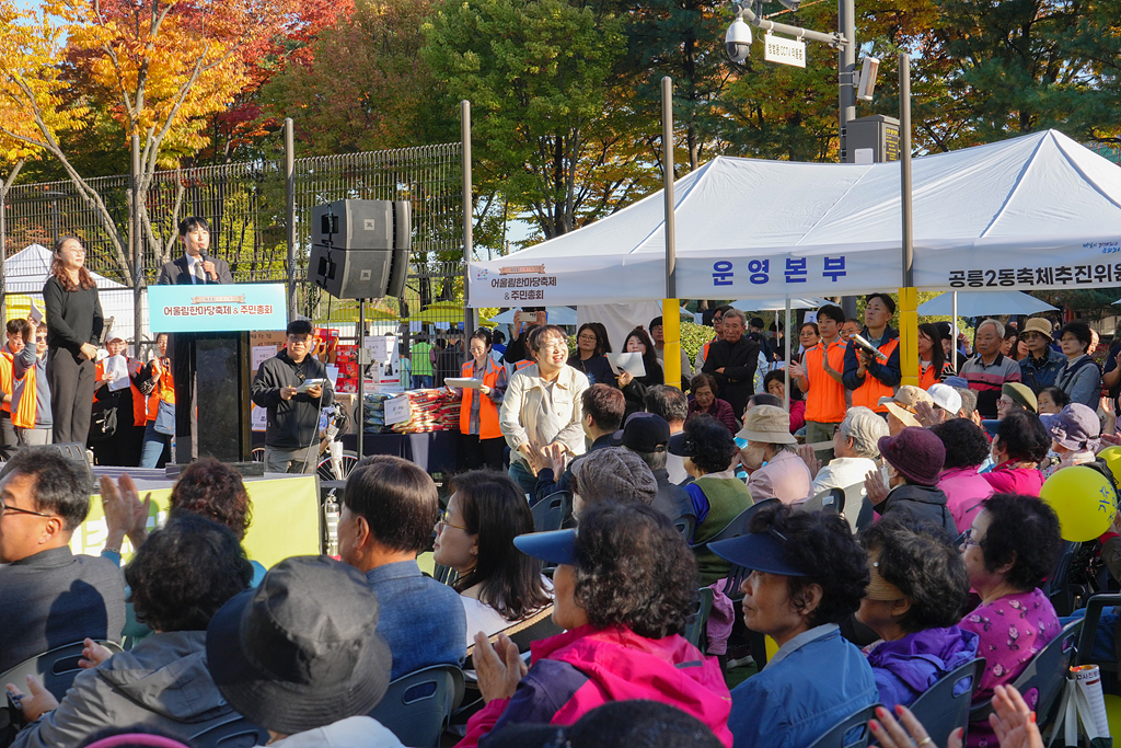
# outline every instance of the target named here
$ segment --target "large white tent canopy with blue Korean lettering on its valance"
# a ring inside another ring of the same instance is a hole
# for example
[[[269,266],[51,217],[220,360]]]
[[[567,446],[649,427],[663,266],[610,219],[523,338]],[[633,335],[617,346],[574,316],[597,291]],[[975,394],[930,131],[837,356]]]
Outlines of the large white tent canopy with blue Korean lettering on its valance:
[[[901,283],[899,164],[719,157],[674,187],[682,298],[836,296]],[[1060,132],[914,161],[915,285],[1121,285],[1121,166]],[[665,295],[660,192],[470,265],[471,306]]]

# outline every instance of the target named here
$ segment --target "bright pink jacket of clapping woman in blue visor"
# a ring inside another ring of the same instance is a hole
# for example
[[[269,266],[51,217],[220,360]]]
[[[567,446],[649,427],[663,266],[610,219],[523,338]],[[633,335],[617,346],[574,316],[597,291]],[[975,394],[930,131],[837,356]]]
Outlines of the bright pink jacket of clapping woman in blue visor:
[[[648,639],[623,627],[581,626],[535,641],[530,650],[532,664],[513,698],[494,699],[476,712],[456,748],[476,746],[484,735],[506,723],[573,724],[596,707],[634,699],[676,707],[707,724],[722,744],[732,746],[728,729],[732,696],[720,665],[676,634]],[[558,663],[574,669],[557,671]],[[555,673],[552,681],[535,677],[545,665]],[[560,704],[559,709],[555,704]],[[518,717],[503,714],[507,711],[517,711]]]

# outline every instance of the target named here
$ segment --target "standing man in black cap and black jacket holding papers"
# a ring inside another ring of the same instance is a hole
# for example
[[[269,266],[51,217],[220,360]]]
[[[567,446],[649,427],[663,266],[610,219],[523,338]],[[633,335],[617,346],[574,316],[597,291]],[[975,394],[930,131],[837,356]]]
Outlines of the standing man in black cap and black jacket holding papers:
[[[296,320],[287,332],[285,349],[261,363],[253,378],[253,403],[268,412],[265,471],[314,473],[319,412],[331,405],[333,393],[326,367],[309,353],[312,323]]]

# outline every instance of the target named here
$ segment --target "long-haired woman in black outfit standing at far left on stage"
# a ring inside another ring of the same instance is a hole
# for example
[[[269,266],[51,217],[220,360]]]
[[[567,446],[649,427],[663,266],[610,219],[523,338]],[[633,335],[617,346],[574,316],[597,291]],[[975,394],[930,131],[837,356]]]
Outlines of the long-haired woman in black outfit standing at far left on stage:
[[[54,441],[85,444],[93,407],[93,362],[104,317],[98,285],[85,269],[85,248],[77,237],[55,241],[43,301],[47,307],[47,381]]]

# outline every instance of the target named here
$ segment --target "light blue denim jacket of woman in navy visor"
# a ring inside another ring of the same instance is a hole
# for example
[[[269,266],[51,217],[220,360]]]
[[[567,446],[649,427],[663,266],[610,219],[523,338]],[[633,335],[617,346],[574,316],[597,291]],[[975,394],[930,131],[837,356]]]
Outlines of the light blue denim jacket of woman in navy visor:
[[[880,699],[863,653],[835,624],[784,644],[758,675],[732,690],[734,748],[806,748]]]

